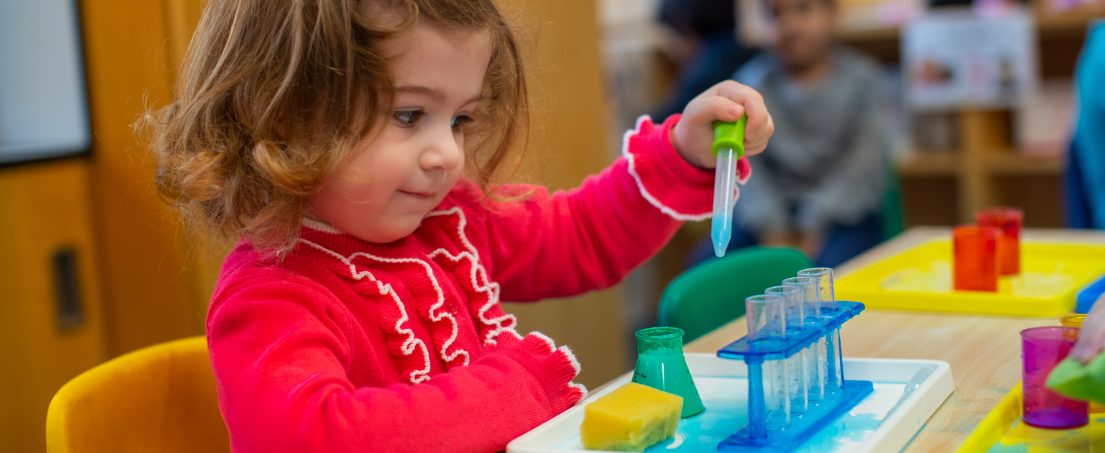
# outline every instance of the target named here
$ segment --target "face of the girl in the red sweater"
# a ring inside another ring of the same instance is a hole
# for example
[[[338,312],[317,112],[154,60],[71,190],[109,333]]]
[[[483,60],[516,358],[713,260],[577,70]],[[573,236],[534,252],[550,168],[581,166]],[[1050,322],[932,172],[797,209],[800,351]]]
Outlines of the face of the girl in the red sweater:
[[[383,50],[396,86],[392,110],[326,177],[308,214],[375,243],[414,232],[461,178],[465,123],[482,99],[492,53],[486,32],[424,23]]]

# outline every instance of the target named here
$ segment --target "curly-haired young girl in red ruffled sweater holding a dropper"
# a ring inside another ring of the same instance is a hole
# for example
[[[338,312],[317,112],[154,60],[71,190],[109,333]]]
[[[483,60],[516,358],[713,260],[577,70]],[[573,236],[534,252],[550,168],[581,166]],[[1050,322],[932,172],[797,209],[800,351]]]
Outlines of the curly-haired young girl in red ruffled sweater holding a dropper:
[[[241,238],[207,322],[234,451],[503,450],[585,389],[501,298],[613,285],[711,211],[713,122],[772,131],[725,83],[578,189],[491,186],[522,67],[493,0],[208,2],[155,148],[185,218]]]

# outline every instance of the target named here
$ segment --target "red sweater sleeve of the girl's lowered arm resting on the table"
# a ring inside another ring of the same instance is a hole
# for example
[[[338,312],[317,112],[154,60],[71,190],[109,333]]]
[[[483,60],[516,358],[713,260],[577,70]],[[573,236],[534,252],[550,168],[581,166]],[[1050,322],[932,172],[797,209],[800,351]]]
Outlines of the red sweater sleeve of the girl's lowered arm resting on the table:
[[[358,388],[332,293],[272,280],[222,293],[208,343],[239,453],[495,451],[582,397],[578,366],[537,336],[423,383]]]

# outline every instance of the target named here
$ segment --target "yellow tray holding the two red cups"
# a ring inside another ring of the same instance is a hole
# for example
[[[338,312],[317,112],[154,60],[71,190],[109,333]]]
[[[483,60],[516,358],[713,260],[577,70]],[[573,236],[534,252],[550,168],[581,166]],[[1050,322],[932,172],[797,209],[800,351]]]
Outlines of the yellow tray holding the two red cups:
[[[1021,243],[1021,274],[1001,277],[997,293],[951,289],[951,243],[930,241],[867,265],[836,282],[841,301],[869,308],[988,315],[1061,316],[1077,292],[1105,274],[1105,245]]]

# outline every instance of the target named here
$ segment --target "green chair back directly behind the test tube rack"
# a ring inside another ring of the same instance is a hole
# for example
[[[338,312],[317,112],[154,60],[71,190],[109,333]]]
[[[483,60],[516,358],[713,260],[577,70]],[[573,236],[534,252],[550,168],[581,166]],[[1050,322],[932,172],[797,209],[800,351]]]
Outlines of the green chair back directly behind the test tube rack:
[[[749,247],[708,260],[675,277],[660,298],[661,326],[683,329],[684,341],[698,338],[745,314],[745,297],[760,294],[811,267],[791,247]]]

